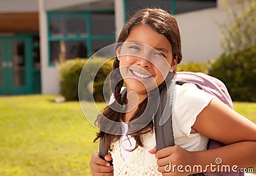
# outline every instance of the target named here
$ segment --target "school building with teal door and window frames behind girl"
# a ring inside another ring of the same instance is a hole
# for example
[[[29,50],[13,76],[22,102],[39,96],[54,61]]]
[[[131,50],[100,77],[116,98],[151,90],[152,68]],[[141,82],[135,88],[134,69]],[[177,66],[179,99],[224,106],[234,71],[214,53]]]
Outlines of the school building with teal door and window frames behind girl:
[[[232,0],[227,0],[232,3]],[[0,0],[0,95],[60,93],[56,63],[113,44],[138,9],[175,15],[183,61],[220,56],[223,0]],[[76,88],[74,88],[76,89]]]

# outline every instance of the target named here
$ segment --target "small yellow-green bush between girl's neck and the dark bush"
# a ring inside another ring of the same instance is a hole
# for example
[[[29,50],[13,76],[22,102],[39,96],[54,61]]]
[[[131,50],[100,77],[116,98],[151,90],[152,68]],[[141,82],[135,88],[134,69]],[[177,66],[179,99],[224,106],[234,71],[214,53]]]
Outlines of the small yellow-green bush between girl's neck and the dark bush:
[[[204,74],[208,74],[208,68],[210,64],[206,63],[194,63],[194,62],[186,62],[182,63],[177,67],[178,72],[202,72]]]

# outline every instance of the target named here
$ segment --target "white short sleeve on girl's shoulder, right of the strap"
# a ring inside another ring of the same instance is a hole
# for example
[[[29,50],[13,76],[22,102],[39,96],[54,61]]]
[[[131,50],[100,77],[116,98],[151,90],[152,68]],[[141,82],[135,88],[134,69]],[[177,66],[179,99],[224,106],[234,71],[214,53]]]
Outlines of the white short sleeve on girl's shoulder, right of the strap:
[[[193,83],[176,84],[173,97],[174,133],[177,136],[188,138],[195,136],[195,134],[190,134],[191,127],[198,114],[208,106],[213,98],[213,95],[200,90]]]

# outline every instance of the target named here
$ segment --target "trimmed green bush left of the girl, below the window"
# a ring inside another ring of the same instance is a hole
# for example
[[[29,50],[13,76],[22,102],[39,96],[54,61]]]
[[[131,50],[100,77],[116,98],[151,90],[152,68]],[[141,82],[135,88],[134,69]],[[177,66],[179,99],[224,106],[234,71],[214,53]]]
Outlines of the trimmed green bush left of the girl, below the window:
[[[111,72],[113,61],[106,62],[105,58],[93,58],[90,62],[87,62],[88,59],[75,59],[75,60],[67,60],[63,61],[58,65],[60,72],[60,86],[61,86],[61,95],[65,97],[66,100],[78,100],[78,83],[81,71],[85,64],[86,70],[83,71],[83,76],[81,79],[81,88],[83,90],[79,93],[80,97],[83,99],[91,99],[92,96],[95,101],[103,101],[104,97],[102,94],[103,84],[106,80],[106,77]],[[102,66],[102,67],[100,67]],[[100,68],[100,70],[99,70]],[[97,72],[97,70],[99,70]],[[95,72],[97,72],[95,76]],[[93,80],[93,77],[95,79]],[[93,87],[93,88],[92,88]]]

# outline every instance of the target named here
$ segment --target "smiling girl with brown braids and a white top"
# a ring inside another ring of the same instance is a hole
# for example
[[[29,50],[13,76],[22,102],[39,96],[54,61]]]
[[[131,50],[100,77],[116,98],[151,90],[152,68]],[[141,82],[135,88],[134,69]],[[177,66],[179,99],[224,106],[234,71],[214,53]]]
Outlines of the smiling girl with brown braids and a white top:
[[[150,113],[147,113],[149,123],[142,129],[136,131],[136,125],[127,125],[127,122],[138,119],[145,109],[154,107],[154,104],[150,104],[148,93],[153,88],[147,86],[147,81],[153,79],[161,92],[166,79],[169,79],[170,73],[175,73],[182,60],[179,28],[172,15],[160,9],[140,10],[127,21],[118,42],[127,43],[116,49],[113,69],[118,71],[111,74],[115,97],[112,101],[128,104],[131,111],[120,113],[109,106],[104,109],[102,115],[121,122],[123,133],[115,135],[100,131],[97,134],[95,140],[107,139],[111,152],[105,157],[106,161],[99,157],[99,153],[92,155],[92,175],[189,175],[198,171],[186,172],[184,167],[195,165],[202,166],[204,171],[214,172],[209,166],[216,164],[217,158],[223,161],[219,163],[220,166],[237,165],[237,170],[256,165],[256,125],[194,84],[175,85],[173,147],[156,150],[154,123]],[[147,50],[144,45],[156,52]],[[125,49],[130,49],[132,54]],[[154,59],[147,60],[134,54],[144,51],[150,51]],[[166,68],[157,66],[161,62],[157,56],[167,61],[168,74],[164,72]],[[124,81],[127,93],[120,94]],[[134,92],[136,95],[132,94]],[[103,121],[99,118],[98,122],[100,124]],[[209,138],[227,146],[205,150]],[[108,163],[112,159],[113,166]],[[170,172],[169,167],[174,165],[183,166],[183,170],[176,168]]]

